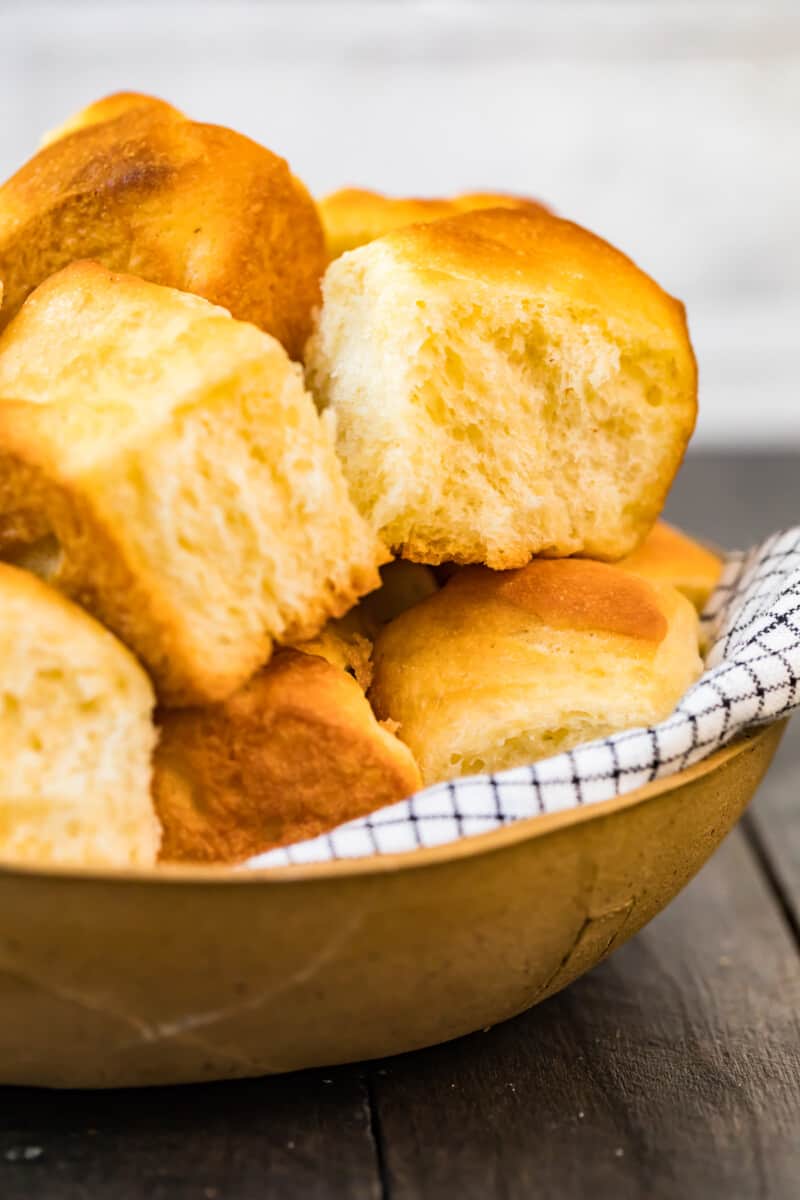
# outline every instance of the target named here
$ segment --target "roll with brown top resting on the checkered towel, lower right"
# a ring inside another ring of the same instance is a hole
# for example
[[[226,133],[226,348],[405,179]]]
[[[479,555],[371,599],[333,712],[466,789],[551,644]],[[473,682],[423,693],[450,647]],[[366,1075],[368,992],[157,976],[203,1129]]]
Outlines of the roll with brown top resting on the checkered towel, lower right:
[[[585,559],[465,568],[378,635],[375,713],[426,784],[658,721],[702,670],[674,588]]]

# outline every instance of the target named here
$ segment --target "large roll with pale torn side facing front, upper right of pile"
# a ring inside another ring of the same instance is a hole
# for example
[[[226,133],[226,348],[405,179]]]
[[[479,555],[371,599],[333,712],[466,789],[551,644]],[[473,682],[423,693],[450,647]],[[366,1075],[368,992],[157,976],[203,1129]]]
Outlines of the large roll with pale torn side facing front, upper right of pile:
[[[331,263],[307,377],[360,510],[401,556],[630,553],[694,425],[682,306],[542,212],[396,230]]]

